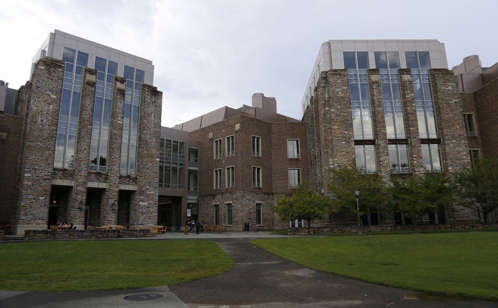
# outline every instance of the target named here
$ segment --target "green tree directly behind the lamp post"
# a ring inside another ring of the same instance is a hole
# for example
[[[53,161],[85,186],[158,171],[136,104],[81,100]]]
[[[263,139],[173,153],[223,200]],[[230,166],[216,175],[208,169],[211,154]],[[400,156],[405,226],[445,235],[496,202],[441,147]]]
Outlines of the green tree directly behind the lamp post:
[[[335,180],[328,185],[329,191],[333,193],[330,213],[356,214],[357,189],[360,191],[360,213],[368,213],[369,209],[377,212],[384,208],[389,195],[380,174],[365,174],[357,168],[356,163],[331,169],[331,172],[334,173]]]

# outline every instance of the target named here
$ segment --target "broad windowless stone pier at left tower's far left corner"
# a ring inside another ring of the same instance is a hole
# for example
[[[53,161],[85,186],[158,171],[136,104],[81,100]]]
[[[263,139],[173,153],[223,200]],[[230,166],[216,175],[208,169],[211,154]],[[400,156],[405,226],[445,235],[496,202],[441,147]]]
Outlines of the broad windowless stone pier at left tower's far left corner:
[[[19,97],[24,98],[19,104],[24,106],[18,186],[22,193],[12,222],[13,232],[16,225],[47,225],[63,73],[62,61],[40,59],[26,87],[26,95]]]

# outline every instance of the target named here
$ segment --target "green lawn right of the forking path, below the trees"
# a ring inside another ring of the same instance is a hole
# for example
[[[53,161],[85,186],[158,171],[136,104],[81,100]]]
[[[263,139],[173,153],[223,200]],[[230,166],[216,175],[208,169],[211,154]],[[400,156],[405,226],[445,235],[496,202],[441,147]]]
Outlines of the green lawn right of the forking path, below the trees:
[[[429,294],[498,301],[498,232],[252,240],[318,271]]]

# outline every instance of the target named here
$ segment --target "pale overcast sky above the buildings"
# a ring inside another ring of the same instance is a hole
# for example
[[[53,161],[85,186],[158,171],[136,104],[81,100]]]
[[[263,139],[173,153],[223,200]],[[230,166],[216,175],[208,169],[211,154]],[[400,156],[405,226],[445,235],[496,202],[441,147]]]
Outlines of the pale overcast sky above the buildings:
[[[18,89],[59,29],[152,60],[162,125],[223,106],[277,100],[300,119],[320,44],[329,39],[438,39],[449,68],[498,62],[498,0],[0,0],[0,79]]]

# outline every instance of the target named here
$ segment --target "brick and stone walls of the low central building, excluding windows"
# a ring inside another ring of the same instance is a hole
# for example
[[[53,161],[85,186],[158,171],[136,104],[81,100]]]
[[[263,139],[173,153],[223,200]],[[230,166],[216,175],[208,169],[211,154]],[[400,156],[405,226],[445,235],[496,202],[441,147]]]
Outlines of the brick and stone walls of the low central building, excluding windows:
[[[234,136],[234,155],[227,156],[227,137]],[[252,154],[252,136],[261,140],[261,155]],[[227,204],[232,204],[232,224],[227,230],[281,229],[272,210],[275,201],[291,194],[288,169],[298,168],[301,181],[309,182],[307,136],[304,123],[270,123],[237,115],[190,133],[199,145],[199,219],[214,224],[215,205],[219,224],[227,225]],[[214,159],[214,143],[222,140],[223,155]],[[287,140],[298,139],[300,158],[288,158]],[[235,167],[235,187],[227,187],[227,167]],[[252,167],[261,167],[261,187],[252,186]],[[214,187],[214,170],[222,169],[222,188]],[[256,203],[261,203],[261,224],[256,224]]]

